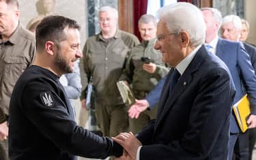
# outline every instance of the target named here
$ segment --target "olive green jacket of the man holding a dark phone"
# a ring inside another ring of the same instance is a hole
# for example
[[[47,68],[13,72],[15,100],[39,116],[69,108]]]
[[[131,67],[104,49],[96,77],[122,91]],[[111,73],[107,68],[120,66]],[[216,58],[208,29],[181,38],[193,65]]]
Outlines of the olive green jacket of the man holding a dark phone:
[[[132,84],[133,91],[149,93],[158,81],[169,72],[167,65],[162,63],[162,54],[159,50],[154,49],[155,42],[156,39],[142,41],[141,44],[131,50],[126,67],[119,80],[126,80],[129,84]],[[141,57],[149,57],[152,63],[156,64],[154,74],[150,74],[142,68],[143,61],[141,61]]]

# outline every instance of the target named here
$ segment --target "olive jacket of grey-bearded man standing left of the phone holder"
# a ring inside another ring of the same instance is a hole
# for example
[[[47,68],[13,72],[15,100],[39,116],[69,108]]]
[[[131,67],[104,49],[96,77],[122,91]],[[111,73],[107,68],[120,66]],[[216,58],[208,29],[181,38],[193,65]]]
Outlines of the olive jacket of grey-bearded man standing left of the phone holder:
[[[100,33],[87,39],[81,61],[86,76],[82,78],[82,85],[87,86],[92,76],[96,101],[108,105],[123,103],[116,82],[122,74],[128,52],[137,44],[139,39],[136,36],[120,30],[111,39],[103,39]],[[81,99],[85,98],[85,93],[86,89]]]

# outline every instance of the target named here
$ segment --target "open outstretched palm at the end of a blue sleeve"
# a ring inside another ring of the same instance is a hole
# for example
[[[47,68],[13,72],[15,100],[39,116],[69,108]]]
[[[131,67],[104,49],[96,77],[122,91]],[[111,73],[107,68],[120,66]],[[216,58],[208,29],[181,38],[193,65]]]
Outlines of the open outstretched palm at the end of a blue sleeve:
[[[139,114],[146,110],[150,104],[147,102],[146,99],[135,99],[135,103],[130,106],[130,109],[128,110],[128,114],[130,118],[139,118]]]

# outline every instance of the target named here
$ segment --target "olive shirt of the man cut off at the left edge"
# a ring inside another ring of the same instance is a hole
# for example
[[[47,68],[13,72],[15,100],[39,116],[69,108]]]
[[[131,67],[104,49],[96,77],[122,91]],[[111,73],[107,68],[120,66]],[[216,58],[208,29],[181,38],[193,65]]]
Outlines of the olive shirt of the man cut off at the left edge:
[[[5,114],[9,114],[10,97],[16,81],[34,58],[35,37],[20,23],[7,42],[2,42],[0,37],[0,123],[4,121]]]

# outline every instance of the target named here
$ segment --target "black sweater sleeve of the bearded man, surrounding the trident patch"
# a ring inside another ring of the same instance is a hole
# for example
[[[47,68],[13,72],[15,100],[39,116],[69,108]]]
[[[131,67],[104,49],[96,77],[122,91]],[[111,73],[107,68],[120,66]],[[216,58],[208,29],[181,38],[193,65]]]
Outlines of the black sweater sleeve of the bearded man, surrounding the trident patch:
[[[45,106],[40,95],[44,92],[51,95],[53,106]],[[63,152],[100,159],[122,154],[121,146],[113,146],[110,138],[100,137],[76,125],[70,118],[66,104],[55,93],[48,80],[29,82],[24,89],[21,103],[29,121]]]

